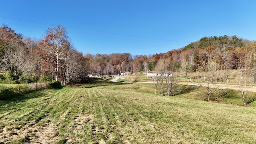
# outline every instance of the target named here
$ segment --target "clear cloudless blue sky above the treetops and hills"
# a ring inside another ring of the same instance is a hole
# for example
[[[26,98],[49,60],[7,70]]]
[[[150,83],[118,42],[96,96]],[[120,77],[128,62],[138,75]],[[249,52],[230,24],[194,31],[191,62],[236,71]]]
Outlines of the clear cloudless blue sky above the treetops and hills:
[[[42,38],[66,27],[84,54],[156,54],[204,36],[256,39],[255,0],[2,0],[0,24]]]

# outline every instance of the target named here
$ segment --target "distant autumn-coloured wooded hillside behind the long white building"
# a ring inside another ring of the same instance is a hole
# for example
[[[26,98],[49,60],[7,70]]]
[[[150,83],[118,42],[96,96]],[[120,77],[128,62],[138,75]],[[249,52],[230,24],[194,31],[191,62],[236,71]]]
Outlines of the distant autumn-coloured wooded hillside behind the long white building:
[[[159,61],[171,63],[174,71],[189,72],[214,71],[215,81],[230,81],[230,70],[250,68],[252,81],[256,82],[254,66],[255,41],[243,40],[236,36],[204,37],[184,48],[171,50],[152,56],[124,54],[96,54],[90,58],[90,74],[112,75],[120,72],[140,72],[156,70]],[[167,68],[167,66],[166,66]],[[219,71],[224,70],[224,75]],[[158,70],[159,71],[159,70]]]

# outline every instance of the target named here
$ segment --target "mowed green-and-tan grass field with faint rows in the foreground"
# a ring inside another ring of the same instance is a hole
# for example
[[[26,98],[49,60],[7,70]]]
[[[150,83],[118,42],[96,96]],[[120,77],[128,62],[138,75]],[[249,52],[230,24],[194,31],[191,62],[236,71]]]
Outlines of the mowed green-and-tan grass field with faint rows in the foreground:
[[[0,101],[3,144],[255,142],[255,107],[154,95],[153,84],[99,83]]]

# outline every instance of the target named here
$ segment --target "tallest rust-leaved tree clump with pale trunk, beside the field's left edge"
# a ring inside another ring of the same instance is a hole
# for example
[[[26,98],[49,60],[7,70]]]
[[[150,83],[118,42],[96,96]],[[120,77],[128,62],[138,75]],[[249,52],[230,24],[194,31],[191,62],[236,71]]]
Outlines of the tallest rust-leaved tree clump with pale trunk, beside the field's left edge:
[[[48,28],[45,34],[36,52],[40,56],[41,74],[63,84],[87,80],[89,60],[70,44],[66,28],[58,25]]]

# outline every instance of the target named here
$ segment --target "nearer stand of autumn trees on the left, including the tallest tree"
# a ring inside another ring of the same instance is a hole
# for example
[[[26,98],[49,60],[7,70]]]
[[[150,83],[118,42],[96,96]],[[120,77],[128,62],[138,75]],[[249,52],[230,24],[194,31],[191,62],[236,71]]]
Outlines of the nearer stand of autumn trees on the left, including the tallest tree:
[[[64,26],[48,28],[40,40],[24,39],[8,26],[0,28],[2,82],[84,82],[88,68],[89,61],[73,48]]]

